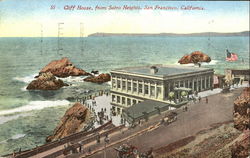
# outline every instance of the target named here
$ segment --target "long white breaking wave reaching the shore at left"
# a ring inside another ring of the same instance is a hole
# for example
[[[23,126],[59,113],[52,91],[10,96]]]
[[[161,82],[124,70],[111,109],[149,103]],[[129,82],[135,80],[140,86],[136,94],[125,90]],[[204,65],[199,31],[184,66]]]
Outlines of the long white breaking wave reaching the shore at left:
[[[33,110],[41,110],[44,108],[49,108],[49,107],[56,107],[56,106],[65,106],[69,105],[69,101],[67,100],[57,100],[57,101],[31,101],[27,105],[13,108],[13,109],[8,109],[8,110],[2,110],[0,111],[0,116],[1,115],[11,115],[14,113],[20,113],[20,112],[28,112],[28,111],[33,111]]]

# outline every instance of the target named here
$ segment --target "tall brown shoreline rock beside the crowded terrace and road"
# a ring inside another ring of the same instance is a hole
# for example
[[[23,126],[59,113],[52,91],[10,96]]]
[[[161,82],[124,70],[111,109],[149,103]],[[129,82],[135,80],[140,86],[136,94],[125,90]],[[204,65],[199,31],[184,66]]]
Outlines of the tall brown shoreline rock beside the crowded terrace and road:
[[[89,110],[83,104],[78,102],[75,103],[65,112],[60,123],[54,130],[53,135],[48,136],[46,142],[61,139],[65,136],[81,131],[87,125],[89,119]]]

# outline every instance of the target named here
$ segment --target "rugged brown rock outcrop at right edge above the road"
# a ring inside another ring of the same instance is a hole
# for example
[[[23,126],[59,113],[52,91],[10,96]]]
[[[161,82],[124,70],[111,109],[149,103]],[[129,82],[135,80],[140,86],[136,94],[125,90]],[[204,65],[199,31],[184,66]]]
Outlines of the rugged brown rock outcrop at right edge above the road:
[[[234,127],[240,131],[250,128],[250,87],[234,101]]]

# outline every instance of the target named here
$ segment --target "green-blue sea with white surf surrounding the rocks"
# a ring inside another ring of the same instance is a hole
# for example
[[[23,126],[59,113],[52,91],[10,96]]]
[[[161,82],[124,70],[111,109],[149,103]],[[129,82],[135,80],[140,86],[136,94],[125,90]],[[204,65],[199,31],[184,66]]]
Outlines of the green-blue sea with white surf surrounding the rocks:
[[[177,64],[184,54],[202,51],[212,58],[205,67],[224,73],[225,68],[249,68],[248,37],[87,37],[81,51],[79,38],[0,38],[0,155],[18,148],[41,145],[69,107],[68,97],[98,91],[110,85],[67,78],[70,87],[57,91],[26,91],[25,87],[51,60],[68,57],[86,71],[109,72],[114,68],[148,64]],[[239,56],[225,61],[225,49]],[[243,61],[244,60],[244,61]]]

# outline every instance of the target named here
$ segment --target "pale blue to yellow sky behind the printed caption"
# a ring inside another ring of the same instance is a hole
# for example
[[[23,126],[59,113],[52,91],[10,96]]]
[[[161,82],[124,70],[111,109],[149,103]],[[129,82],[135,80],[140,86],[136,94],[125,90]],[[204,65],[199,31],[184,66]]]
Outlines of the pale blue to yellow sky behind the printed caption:
[[[55,9],[51,9],[51,6]],[[96,6],[121,7],[96,10]],[[123,6],[141,9],[124,10]],[[73,10],[68,10],[75,6]],[[78,6],[93,10],[77,10]],[[144,9],[145,6],[153,9]],[[156,6],[177,8],[155,9]],[[183,8],[203,8],[184,10]],[[79,37],[105,33],[198,33],[249,30],[247,1],[0,0],[0,37]],[[43,30],[43,33],[41,33]]]

